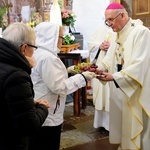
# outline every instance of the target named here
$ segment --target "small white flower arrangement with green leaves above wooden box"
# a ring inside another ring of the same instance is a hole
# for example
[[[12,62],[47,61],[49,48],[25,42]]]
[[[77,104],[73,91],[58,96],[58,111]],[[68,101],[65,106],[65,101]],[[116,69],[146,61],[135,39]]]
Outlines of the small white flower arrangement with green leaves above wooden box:
[[[75,37],[71,33],[63,36],[62,45],[70,45],[70,44],[75,44],[75,43],[76,43]]]

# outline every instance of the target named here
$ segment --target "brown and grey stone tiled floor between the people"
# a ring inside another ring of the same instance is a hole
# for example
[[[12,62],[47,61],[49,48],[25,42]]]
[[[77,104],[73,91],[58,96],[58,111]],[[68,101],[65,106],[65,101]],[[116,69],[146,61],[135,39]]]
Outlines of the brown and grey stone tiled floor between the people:
[[[73,107],[66,106],[61,135],[61,150],[117,150],[109,143],[108,133],[93,128],[94,107],[91,102],[80,117],[73,116]]]

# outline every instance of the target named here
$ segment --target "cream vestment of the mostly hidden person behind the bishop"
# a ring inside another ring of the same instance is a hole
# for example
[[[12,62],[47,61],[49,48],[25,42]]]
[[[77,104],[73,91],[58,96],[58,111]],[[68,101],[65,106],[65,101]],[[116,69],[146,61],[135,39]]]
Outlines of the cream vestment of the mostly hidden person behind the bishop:
[[[104,40],[111,40],[112,32],[106,25],[99,27],[88,41],[90,61],[93,61],[100,44]],[[99,64],[105,57],[107,51],[101,50],[96,64]],[[104,127],[109,130],[109,84],[103,85],[98,79],[91,81],[93,91],[93,104],[95,105],[94,127]]]

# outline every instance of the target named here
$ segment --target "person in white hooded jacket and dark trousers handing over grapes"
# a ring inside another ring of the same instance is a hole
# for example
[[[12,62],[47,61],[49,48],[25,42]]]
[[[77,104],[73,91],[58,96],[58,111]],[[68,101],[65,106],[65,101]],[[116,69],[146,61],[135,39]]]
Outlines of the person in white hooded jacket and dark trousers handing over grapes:
[[[86,79],[95,77],[93,72],[84,72],[68,78],[68,72],[57,56],[59,26],[42,22],[36,29],[36,45],[34,53],[37,64],[32,69],[31,78],[34,84],[35,98],[47,99],[51,104],[49,115],[40,132],[35,135],[35,150],[59,150],[61,125],[65,109],[66,95],[86,86]]]

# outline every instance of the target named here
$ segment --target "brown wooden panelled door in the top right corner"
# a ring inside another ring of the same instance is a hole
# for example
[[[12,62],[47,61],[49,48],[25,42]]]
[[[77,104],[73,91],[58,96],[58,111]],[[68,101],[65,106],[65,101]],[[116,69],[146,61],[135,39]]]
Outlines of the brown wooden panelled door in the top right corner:
[[[150,27],[150,0],[132,0],[132,18],[141,19]]]

